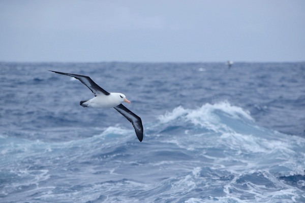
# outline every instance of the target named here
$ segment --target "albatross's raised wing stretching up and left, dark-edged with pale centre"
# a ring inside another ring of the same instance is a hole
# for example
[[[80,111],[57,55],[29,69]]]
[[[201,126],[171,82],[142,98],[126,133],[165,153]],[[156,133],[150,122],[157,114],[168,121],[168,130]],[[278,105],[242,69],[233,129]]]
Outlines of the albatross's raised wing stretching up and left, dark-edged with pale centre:
[[[109,95],[110,93],[104,90],[102,87],[97,85],[90,77],[88,76],[82,76],[82,75],[76,75],[76,74],[70,74],[70,73],[62,73],[62,72],[57,72],[57,71],[51,71],[54,73],[66,75],[66,76],[71,76],[79,80],[82,84],[86,85],[93,93],[95,96],[98,96],[100,94],[105,94]]]

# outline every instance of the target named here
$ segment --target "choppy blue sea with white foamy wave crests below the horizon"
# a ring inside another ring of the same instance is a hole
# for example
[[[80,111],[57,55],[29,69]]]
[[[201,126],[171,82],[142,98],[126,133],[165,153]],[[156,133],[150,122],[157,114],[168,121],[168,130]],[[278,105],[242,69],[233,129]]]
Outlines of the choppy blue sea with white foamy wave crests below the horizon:
[[[124,93],[90,109],[90,76]],[[0,202],[305,202],[305,63],[0,63]]]

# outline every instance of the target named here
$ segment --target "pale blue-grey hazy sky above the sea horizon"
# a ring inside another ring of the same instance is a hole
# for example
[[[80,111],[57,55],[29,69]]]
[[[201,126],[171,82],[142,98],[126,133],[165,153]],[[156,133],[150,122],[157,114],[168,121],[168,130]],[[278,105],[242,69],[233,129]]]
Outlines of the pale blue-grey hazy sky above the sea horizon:
[[[0,61],[305,61],[303,0],[0,0]]]

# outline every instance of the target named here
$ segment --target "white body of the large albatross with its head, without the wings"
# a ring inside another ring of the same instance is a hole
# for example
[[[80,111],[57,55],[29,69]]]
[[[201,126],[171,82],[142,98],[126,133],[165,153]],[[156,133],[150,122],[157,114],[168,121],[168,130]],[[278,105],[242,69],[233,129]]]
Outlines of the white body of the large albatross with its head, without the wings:
[[[124,94],[110,92],[110,95],[98,95],[92,99],[85,101],[82,105],[85,105],[86,107],[108,109],[116,107],[117,105],[123,103],[123,101],[130,103]]]

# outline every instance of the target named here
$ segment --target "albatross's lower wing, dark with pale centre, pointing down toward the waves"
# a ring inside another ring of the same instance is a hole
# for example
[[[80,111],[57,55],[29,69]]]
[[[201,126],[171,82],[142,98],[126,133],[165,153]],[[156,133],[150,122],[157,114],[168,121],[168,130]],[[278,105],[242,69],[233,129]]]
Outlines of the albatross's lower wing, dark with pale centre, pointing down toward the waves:
[[[134,114],[132,111],[127,109],[124,105],[120,104],[116,107],[113,107],[121,115],[123,115],[127,120],[129,120],[135,128],[135,132],[140,142],[143,140],[143,125],[142,120],[139,116]]]

